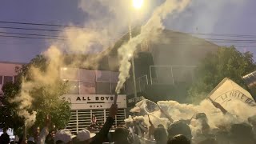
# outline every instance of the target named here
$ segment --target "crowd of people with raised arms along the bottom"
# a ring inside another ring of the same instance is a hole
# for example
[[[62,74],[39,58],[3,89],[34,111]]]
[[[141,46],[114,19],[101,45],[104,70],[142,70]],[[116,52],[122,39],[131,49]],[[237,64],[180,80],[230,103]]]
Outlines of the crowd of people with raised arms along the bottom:
[[[217,106],[217,104],[215,103]],[[218,107],[218,106],[217,106]],[[19,138],[19,144],[255,144],[256,138],[256,116],[248,118],[248,122],[234,123],[226,126],[219,126],[213,129],[208,124],[208,118],[204,113],[194,115],[194,120],[199,129],[196,132],[191,130],[192,119],[174,121],[170,116],[169,126],[159,124],[154,126],[148,115],[149,126],[143,120],[134,120],[126,122],[124,126],[118,126],[114,133],[110,133],[110,129],[114,124],[114,118],[118,112],[118,106],[110,107],[110,115],[97,134],[90,130],[80,130],[78,134],[71,134],[70,130],[50,130],[50,118],[46,118],[46,126],[40,130],[39,127],[33,128],[30,136]],[[223,110],[222,110],[223,112]],[[223,113],[223,114],[226,114]],[[96,117],[92,118],[92,125],[97,125]],[[0,137],[0,144],[15,143],[10,142],[10,138],[3,129]]]

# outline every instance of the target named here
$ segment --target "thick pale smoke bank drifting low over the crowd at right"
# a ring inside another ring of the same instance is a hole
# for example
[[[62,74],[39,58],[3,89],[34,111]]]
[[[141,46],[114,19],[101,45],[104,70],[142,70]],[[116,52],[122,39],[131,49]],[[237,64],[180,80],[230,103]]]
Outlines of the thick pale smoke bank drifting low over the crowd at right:
[[[134,107],[134,110],[136,111],[133,112],[138,113],[138,109],[140,109],[139,114],[142,114],[141,116],[144,117],[144,122],[147,124],[147,126],[150,126],[147,114],[143,113],[146,111],[145,109],[148,106],[142,105],[146,105],[146,102],[140,102],[139,105],[136,105]],[[157,105],[155,104],[155,106]],[[248,106],[246,103],[238,100],[232,100],[232,102],[230,102],[226,107],[228,114],[222,114],[222,112],[215,108],[214,105],[208,100],[202,101],[199,105],[181,104],[176,101],[159,101],[158,106],[160,106],[162,110],[166,111],[166,113],[169,114],[174,121],[191,120],[190,128],[193,133],[200,130],[200,126],[202,126],[198,120],[194,119],[194,114],[205,113],[208,119],[208,124],[212,129],[222,127],[228,129],[231,124],[248,122],[247,118],[256,114],[255,106]],[[150,114],[150,120],[153,122],[154,126],[162,124],[167,127],[170,125],[170,121],[165,118],[160,110],[156,110],[148,114]],[[141,116],[139,116],[139,119],[142,119]],[[131,118],[127,118],[126,122],[131,122]]]

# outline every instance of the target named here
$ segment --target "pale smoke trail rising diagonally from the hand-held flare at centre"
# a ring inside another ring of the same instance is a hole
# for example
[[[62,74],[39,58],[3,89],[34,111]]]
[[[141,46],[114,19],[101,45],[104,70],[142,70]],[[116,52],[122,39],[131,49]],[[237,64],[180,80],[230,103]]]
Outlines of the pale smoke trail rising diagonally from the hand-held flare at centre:
[[[133,56],[136,46],[140,44],[145,38],[154,37],[159,34],[159,30],[162,30],[164,26],[162,25],[162,19],[166,18],[167,14],[171,14],[174,11],[182,11],[188,4],[190,0],[166,0],[161,6],[158,6],[154,10],[151,18],[146,22],[145,26],[142,26],[141,33],[136,37],[131,38],[129,42],[122,45],[118,49],[118,55],[122,58],[119,67],[119,81],[116,87],[116,92],[119,93],[126,78],[129,77],[130,70],[130,57]]]

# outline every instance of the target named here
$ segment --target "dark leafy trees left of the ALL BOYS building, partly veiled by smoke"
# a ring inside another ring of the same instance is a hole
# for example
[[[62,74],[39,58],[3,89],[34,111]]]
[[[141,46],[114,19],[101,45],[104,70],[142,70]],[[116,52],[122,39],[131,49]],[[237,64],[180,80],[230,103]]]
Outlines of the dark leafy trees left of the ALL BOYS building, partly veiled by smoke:
[[[49,65],[49,60],[42,55],[38,55],[33,58],[30,63],[22,66],[18,69],[17,80],[14,83],[7,83],[2,87],[3,97],[1,98],[1,123],[2,125],[18,129],[24,125],[23,119],[18,117],[17,106],[18,103],[10,102],[10,99],[14,98],[20,93],[22,80],[26,82],[34,81],[33,74],[31,74],[31,67],[38,68],[40,72],[45,73],[47,66]],[[58,67],[56,67],[58,69]],[[56,128],[63,128],[67,125],[70,120],[70,103],[62,100],[60,96],[66,94],[69,90],[69,86],[66,82],[63,82],[60,78],[56,78],[52,84],[44,84],[34,86],[30,90],[30,95],[34,98],[30,111],[34,110],[37,112],[36,126],[43,126],[46,115],[51,116],[51,121],[54,123]],[[4,111],[2,111],[4,110]],[[8,118],[8,119],[5,119]],[[14,124],[17,123],[17,126]]]

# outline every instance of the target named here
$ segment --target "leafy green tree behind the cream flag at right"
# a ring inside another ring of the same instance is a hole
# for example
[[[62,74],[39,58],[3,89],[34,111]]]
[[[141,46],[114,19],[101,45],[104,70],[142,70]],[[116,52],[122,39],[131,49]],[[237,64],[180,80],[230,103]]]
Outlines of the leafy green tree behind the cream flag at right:
[[[206,56],[195,70],[196,82],[188,91],[190,101],[201,102],[223,78],[230,78],[246,88],[241,77],[255,69],[252,53],[241,53],[234,46],[220,47],[216,53]]]

